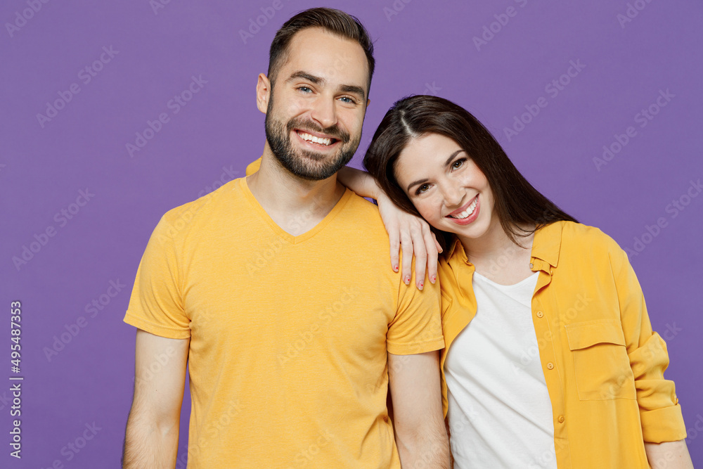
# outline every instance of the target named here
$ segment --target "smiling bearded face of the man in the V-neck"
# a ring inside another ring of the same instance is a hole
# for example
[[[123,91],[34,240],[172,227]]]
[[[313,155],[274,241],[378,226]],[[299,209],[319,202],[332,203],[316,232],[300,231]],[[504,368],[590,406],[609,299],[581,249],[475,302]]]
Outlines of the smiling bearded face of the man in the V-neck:
[[[307,28],[292,38],[275,79],[266,103],[269,147],[292,174],[327,179],[352,159],[361,140],[366,54],[356,41]]]

